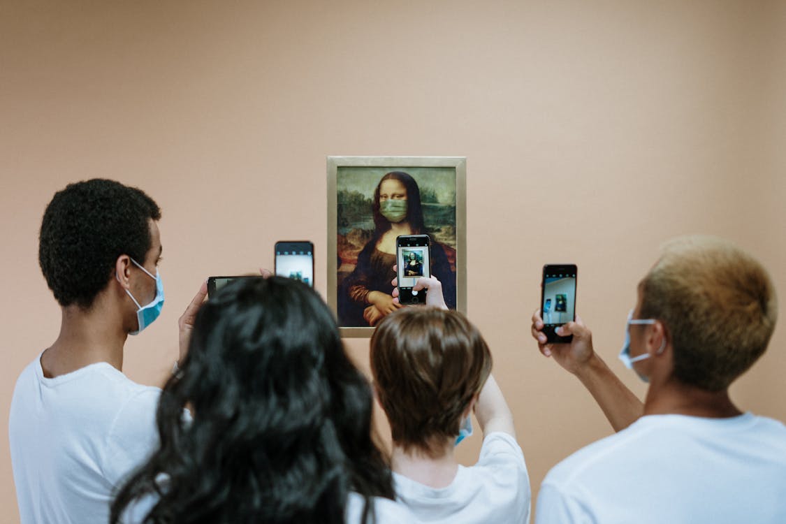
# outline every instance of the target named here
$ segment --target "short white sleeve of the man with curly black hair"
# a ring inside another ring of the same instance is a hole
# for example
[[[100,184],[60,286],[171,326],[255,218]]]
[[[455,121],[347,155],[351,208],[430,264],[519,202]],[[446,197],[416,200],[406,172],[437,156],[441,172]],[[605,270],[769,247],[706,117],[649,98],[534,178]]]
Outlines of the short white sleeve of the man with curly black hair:
[[[101,461],[104,476],[112,486],[117,486],[156,449],[156,409],[160,397],[160,389],[146,387],[128,398],[118,410]]]

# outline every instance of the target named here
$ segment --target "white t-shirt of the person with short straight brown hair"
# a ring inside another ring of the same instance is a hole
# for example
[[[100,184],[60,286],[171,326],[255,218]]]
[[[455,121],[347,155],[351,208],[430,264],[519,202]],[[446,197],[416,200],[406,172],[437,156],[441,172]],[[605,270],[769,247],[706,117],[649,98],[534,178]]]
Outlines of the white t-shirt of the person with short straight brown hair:
[[[421,522],[520,524],[530,515],[530,478],[516,439],[495,432],[483,438],[477,464],[459,465],[450,486],[432,488],[398,473],[396,495]]]

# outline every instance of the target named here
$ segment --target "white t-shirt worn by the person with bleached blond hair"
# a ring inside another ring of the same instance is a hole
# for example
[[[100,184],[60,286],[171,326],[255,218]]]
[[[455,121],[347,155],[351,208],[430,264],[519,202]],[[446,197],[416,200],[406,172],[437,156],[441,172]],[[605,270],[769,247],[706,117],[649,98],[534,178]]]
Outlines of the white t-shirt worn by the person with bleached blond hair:
[[[557,464],[538,494],[537,524],[786,522],[786,427],[643,416]]]

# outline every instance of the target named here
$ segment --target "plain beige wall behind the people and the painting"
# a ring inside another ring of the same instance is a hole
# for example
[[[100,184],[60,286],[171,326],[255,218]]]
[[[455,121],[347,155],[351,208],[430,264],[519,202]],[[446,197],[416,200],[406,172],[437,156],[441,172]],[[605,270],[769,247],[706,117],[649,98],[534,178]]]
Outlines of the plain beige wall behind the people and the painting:
[[[535,495],[549,467],[611,431],[529,338],[544,262],[578,263],[578,313],[639,394],[615,355],[663,240],[736,240],[786,293],[784,33],[776,1],[4,0],[2,520],[17,519],[13,383],[60,320],[37,262],[53,192],[110,177],[163,207],[167,306],[124,368],[157,383],[208,275],[272,266],[275,240],[309,238],[325,294],[327,155],[467,156],[468,313]],[[480,273],[490,253],[497,272]],[[780,420],[783,317],[733,388]],[[367,342],[348,346],[367,365]],[[461,459],[478,449],[470,439]]]

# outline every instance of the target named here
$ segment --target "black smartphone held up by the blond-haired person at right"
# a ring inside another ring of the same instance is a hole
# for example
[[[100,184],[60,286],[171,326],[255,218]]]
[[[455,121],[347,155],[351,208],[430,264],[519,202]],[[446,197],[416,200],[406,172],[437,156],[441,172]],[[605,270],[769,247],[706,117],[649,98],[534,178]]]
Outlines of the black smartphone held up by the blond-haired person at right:
[[[554,331],[576,319],[575,264],[546,264],[541,283],[541,317],[543,333],[549,343],[569,343],[573,335],[560,336]]]

